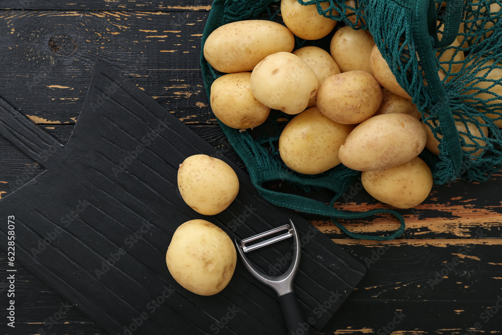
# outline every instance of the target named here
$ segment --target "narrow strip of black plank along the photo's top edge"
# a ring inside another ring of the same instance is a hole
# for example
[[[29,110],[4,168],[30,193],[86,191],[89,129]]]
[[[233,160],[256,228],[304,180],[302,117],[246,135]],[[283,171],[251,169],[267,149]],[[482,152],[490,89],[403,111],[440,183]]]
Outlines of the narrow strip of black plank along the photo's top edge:
[[[211,0],[4,0],[0,9],[60,11],[208,11]]]

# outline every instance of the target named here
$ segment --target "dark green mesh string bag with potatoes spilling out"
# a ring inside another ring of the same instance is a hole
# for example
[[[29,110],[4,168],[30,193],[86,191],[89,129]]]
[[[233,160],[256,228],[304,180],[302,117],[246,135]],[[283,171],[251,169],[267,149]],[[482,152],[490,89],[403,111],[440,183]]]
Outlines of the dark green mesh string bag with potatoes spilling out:
[[[413,98],[423,121],[440,142],[439,157],[427,150],[421,154],[431,167],[435,184],[458,178],[484,181],[500,169],[502,138],[497,124],[502,127],[502,97],[498,95],[502,94],[502,66],[498,64],[502,55],[502,11],[499,3],[452,0],[443,6],[433,0],[323,0],[330,5],[323,10],[319,0],[298,2],[316,4],[319,14],[343,25],[369,30],[399,84]],[[277,0],[214,1],[202,36],[202,49],[207,36],[224,24],[248,19],[281,22],[277,17],[278,3]],[[295,49],[308,44],[329,51],[330,36],[317,41],[297,38]],[[202,51],[200,65],[209,97],[212,82],[222,73],[207,63]],[[285,117],[288,116],[279,113],[264,125],[244,132],[220,123],[261,195],[279,206],[330,217],[338,228],[354,238],[392,240],[401,236],[405,223],[395,210],[354,212],[336,208],[337,201],[360,172],[339,165],[311,176],[293,172],[284,165],[277,147],[280,120]],[[266,186],[278,181],[299,191],[277,191]],[[313,189],[329,189],[334,196],[329,201],[307,196]],[[388,235],[360,235],[349,232],[337,220],[380,214],[395,215],[399,229]]]

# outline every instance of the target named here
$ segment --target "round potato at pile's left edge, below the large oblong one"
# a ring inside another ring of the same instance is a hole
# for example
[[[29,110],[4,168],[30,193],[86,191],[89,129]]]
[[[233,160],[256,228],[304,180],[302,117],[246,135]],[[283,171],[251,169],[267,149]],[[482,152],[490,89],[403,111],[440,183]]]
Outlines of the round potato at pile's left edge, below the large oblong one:
[[[270,107],[251,93],[251,72],[225,74],[213,81],[210,103],[214,115],[223,124],[235,129],[260,126],[267,120]]]

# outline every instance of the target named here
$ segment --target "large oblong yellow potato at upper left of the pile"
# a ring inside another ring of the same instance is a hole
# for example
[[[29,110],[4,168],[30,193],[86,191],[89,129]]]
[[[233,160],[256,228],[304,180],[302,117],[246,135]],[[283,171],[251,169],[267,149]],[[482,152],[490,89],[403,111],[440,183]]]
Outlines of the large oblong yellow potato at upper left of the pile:
[[[283,25],[265,20],[232,22],[215,29],[204,43],[204,57],[217,71],[252,71],[262,59],[291,52],[295,37]]]

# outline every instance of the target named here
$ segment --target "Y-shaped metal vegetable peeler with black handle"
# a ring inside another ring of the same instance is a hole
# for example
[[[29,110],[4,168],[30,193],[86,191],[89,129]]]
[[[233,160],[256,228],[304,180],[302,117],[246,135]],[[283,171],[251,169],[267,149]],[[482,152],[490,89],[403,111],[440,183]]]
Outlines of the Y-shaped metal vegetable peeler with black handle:
[[[246,269],[259,281],[262,283],[272,287],[274,291],[276,291],[279,297],[279,303],[284,313],[284,318],[286,320],[286,327],[288,329],[288,335],[294,334],[314,334],[312,327],[305,320],[305,315],[301,309],[300,303],[296,297],[295,292],[293,291],[293,280],[295,278],[298,267],[300,266],[300,238],[296,232],[296,228],[293,225],[293,221],[290,219],[288,225],[284,225],[278,228],[274,228],[265,233],[261,233],[247,239],[243,239],[239,242],[235,240],[235,245],[237,246],[238,254]],[[253,242],[264,237],[286,231],[284,234],[275,236],[268,240],[257,242],[252,245],[246,246],[247,243]],[[277,277],[269,276],[267,274],[262,273],[258,268],[253,265],[249,259],[245,256],[245,253],[249,251],[253,251],[270,244],[276,243],[278,241],[282,241],[293,237],[293,254],[294,258],[289,266],[289,269],[279,275]]]

